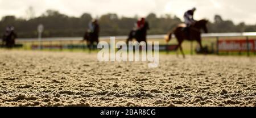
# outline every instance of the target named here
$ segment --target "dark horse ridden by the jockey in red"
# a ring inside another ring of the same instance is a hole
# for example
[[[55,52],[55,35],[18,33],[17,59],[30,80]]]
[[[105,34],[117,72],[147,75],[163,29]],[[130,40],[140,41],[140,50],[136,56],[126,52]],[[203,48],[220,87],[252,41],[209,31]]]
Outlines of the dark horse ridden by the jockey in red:
[[[129,41],[132,41],[133,39],[136,39],[139,43],[141,43],[142,41],[147,43],[147,30],[148,29],[150,29],[149,24],[148,24],[148,22],[145,22],[144,27],[142,27],[141,29],[130,31],[126,43],[128,44]]]

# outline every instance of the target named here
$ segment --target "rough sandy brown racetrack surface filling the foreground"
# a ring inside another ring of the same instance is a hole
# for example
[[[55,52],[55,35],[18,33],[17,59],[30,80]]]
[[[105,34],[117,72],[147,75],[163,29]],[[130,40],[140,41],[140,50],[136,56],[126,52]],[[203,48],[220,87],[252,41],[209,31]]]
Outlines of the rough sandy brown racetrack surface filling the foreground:
[[[256,106],[256,58],[160,55],[98,62],[97,53],[0,50],[0,106]]]

